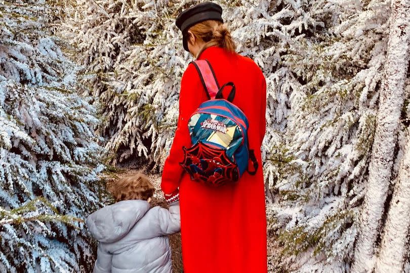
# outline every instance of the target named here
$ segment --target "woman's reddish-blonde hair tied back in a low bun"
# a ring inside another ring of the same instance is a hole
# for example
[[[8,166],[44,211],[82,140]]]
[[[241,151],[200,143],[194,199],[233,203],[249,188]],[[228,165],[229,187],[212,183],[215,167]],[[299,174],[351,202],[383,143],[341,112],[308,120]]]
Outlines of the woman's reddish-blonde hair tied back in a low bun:
[[[219,46],[232,53],[236,50],[236,45],[233,42],[231,32],[228,30],[226,24],[220,21],[203,21],[191,26],[189,30],[196,37],[199,37],[203,42],[205,42],[196,57],[198,57],[202,51],[212,46]]]

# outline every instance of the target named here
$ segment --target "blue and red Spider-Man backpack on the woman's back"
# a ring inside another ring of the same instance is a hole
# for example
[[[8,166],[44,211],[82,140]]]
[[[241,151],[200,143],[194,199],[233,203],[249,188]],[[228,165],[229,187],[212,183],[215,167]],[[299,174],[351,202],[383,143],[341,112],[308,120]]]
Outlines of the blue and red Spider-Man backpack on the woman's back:
[[[245,114],[232,101],[235,85],[232,82],[219,87],[215,72],[208,60],[191,62],[199,73],[209,100],[192,113],[188,122],[192,146],[183,147],[181,166],[192,180],[213,186],[236,182],[245,171],[254,175],[258,162],[249,149],[249,123]],[[223,98],[225,87],[232,89]],[[197,91],[196,91],[197,92]],[[253,171],[248,170],[250,163]]]

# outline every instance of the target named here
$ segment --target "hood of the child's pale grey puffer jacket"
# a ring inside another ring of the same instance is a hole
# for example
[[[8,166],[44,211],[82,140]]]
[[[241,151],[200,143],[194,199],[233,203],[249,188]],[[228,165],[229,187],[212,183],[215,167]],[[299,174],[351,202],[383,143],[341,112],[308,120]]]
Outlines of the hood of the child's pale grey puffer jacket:
[[[92,213],[87,225],[99,242],[113,243],[124,238],[149,209],[143,200],[121,201]]]

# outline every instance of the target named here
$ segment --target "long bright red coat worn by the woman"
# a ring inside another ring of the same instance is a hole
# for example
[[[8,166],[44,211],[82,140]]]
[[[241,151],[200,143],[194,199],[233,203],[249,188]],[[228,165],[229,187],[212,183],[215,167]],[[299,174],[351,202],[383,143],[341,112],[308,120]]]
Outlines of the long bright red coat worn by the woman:
[[[208,59],[218,83],[232,81],[233,103],[249,120],[250,148],[259,166],[266,130],[266,82],[250,58],[213,46],[198,59]],[[226,88],[228,93],[230,88]],[[225,93],[224,92],[224,93]],[[178,128],[162,173],[161,188],[180,188],[182,258],[185,273],[267,272],[265,191],[262,167],[255,176],[245,172],[236,184],[209,187],[190,180],[179,162],[182,147],[190,147],[188,120],[207,100],[198,72],[188,65],[181,81]]]

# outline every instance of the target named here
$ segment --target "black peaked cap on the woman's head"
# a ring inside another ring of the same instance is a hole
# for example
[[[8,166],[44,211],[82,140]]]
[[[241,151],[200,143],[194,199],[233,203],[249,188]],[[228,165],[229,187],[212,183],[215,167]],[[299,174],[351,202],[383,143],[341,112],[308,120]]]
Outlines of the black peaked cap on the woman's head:
[[[212,2],[204,2],[188,8],[178,15],[175,24],[182,31],[182,41],[186,51],[189,50],[185,31],[191,26],[206,20],[216,20],[223,23],[221,6]]]

